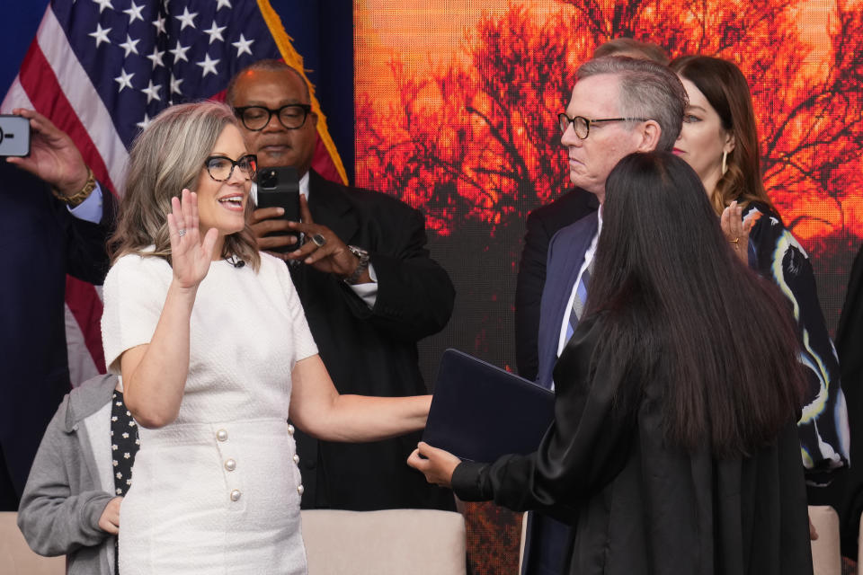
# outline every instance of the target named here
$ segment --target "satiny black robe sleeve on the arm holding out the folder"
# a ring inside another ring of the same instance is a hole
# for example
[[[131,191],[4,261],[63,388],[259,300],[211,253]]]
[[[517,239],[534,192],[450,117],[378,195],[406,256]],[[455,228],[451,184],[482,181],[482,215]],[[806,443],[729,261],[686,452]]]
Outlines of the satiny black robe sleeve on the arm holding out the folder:
[[[494,464],[459,464],[452,478],[459,499],[494,500],[516,511],[571,520],[581,501],[623,468],[632,422],[612,409],[623,375],[610,352],[591,367],[594,326],[583,322],[558,362],[555,420],[538,451],[503,456]]]

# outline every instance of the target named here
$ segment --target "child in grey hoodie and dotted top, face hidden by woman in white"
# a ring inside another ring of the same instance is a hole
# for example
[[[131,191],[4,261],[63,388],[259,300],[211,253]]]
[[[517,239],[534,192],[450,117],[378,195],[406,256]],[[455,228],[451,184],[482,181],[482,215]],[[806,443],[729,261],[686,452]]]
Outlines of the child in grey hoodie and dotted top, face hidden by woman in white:
[[[120,501],[138,447],[118,382],[93,377],[63,399],[18,509],[27,544],[40,555],[67,554],[67,575],[116,573]]]

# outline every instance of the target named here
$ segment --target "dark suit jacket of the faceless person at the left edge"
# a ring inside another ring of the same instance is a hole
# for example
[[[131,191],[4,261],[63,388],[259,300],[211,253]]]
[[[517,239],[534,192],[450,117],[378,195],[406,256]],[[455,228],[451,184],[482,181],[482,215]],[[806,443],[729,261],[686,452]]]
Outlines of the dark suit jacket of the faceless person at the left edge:
[[[101,284],[116,201],[102,188],[102,222],[73,217],[45,181],[0,161],[0,446],[20,497],[42,434],[69,385],[64,297],[71,274]],[[6,495],[6,494],[4,494]]]

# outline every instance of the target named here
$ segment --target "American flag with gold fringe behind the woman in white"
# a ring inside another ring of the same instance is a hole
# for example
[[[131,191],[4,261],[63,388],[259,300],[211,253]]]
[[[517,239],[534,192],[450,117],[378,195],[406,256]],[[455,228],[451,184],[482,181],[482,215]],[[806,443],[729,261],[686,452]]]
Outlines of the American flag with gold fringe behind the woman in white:
[[[0,112],[31,108],[64,130],[99,181],[121,193],[128,149],[167,106],[224,98],[231,76],[262,58],[302,70],[267,0],[53,0]],[[318,112],[313,166],[345,181]],[[69,370],[74,385],[104,372],[96,288],[67,278]]]

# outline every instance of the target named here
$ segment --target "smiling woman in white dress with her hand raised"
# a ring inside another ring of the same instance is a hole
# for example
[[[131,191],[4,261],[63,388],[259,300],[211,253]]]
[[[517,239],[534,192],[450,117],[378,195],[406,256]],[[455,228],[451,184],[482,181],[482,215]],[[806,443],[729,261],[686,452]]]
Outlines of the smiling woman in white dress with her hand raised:
[[[163,111],[129,154],[102,316],[141,428],[123,575],[305,573],[288,417],[331,441],[425,424],[429,396],[336,392],[285,264],[246,226],[254,169],[214,102]]]

